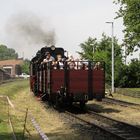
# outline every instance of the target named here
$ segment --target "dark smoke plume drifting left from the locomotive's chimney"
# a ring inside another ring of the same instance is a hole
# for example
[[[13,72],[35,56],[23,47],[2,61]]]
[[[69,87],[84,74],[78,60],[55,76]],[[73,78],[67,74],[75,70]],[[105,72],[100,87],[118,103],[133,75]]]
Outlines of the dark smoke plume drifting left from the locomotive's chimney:
[[[49,27],[49,23],[44,18],[40,18],[33,13],[22,12],[12,16],[6,28],[7,32],[10,32],[14,39],[31,44],[55,44],[54,29]]]

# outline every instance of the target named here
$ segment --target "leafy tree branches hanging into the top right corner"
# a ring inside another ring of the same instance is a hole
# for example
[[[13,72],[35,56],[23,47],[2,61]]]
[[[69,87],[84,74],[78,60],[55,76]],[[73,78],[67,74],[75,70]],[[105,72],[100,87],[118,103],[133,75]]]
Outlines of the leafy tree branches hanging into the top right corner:
[[[120,4],[117,18],[123,18],[124,45],[129,54],[136,46],[140,48],[140,0],[115,0],[115,2]]]

